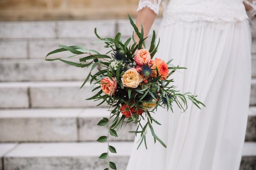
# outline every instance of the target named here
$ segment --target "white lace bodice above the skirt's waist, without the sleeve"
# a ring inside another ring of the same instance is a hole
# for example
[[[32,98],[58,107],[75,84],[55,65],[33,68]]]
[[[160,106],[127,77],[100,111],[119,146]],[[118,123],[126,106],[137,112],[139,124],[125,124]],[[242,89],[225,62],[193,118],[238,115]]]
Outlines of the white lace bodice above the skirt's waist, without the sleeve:
[[[183,4],[171,1],[164,11],[162,23],[171,24],[177,21],[240,22],[248,18],[242,1],[230,3],[230,1],[222,0],[218,2],[212,0],[211,2]]]

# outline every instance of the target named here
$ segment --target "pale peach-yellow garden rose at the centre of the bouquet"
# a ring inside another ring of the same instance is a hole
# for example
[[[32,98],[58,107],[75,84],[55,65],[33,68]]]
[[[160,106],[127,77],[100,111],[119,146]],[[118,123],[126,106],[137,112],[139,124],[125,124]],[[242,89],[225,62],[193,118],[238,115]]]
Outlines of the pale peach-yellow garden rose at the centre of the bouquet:
[[[122,78],[123,86],[136,88],[139,86],[139,83],[143,81],[142,76],[136,71],[135,68],[130,68],[126,72],[124,72]]]

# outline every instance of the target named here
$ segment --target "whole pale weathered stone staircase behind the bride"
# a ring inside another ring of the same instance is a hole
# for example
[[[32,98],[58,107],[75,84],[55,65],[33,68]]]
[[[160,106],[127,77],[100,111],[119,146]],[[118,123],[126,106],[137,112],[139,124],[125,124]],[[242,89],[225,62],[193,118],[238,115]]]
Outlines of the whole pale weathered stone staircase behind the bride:
[[[153,29],[158,30],[160,20]],[[102,170],[98,156],[106,148],[95,142],[107,128],[96,124],[105,106],[85,100],[92,87],[86,68],[44,57],[58,44],[83,45],[106,52],[94,35],[132,33],[128,20],[0,22],[0,170]],[[256,38],[254,30],[253,37]],[[65,55],[64,53],[63,55]],[[252,42],[252,85],[246,139],[240,170],[256,170],[256,39]],[[76,60],[76,59],[74,59]],[[112,137],[112,159],[125,170],[134,136],[131,125]],[[125,146],[125,147],[124,147]]]

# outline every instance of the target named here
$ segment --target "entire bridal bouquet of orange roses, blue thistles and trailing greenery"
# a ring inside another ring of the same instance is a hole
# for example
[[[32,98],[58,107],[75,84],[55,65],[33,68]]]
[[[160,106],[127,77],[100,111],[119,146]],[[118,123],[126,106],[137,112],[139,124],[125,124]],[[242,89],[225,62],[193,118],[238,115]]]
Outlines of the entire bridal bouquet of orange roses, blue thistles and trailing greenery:
[[[95,50],[89,50],[82,46],[65,46],[59,45],[56,49],[47,54],[59,53],[62,51],[70,51],[74,55],[65,57],[70,58],[76,55],[88,54],[88,56],[79,59],[80,62],[72,62],[64,60],[64,58],[46,59],[46,61],[60,60],[66,64],[76,67],[90,67],[81,88],[86,82],[90,82],[95,86],[92,92],[96,94],[87,100],[100,100],[98,105],[107,103],[110,111],[109,117],[103,117],[98,122],[99,126],[108,126],[108,134],[97,139],[98,142],[107,141],[106,152],[100,155],[100,159],[108,158],[108,168],[105,170],[117,169],[116,164],[110,161],[109,152],[117,153],[116,148],[110,145],[109,137],[117,137],[117,128],[122,127],[125,123],[134,123],[137,129],[132,131],[135,135],[140,135],[138,148],[143,143],[146,146],[146,133],[150,130],[154,137],[154,142],[158,141],[162,146],[166,147],[164,142],[155,134],[153,125],[161,125],[154,119],[154,111],[158,107],[166,108],[172,111],[172,107],[176,104],[182,111],[187,109],[187,101],[191,101],[199,109],[199,105],[203,105],[191,93],[179,93],[176,86],[173,85],[174,79],[171,75],[177,69],[186,69],[185,67],[172,66],[171,61],[163,61],[160,58],[154,58],[158,50],[158,43],[155,43],[155,31],[149,49],[144,49],[145,39],[143,34],[143,26],[141,32],[130,18],[135,33],[138,36],[138,43],[134,37],[128,38],[126,42],[122,42],[121,33],[117,33],[114,38],[101,38],[95,28],[95,34],[100,39],[97,43],[105,43],[105,48],[109,48],[106,54],[100,54]],[[133,39],[133,43],[130,41]],[[129,45],[129,46],[128,46]],[[92,74],[92,70],[97,70]],[[97,106],[98,106],[97,105]],[[167,113],[166,113],[167,114]],[[144,124],[141,121],[145,121]]]

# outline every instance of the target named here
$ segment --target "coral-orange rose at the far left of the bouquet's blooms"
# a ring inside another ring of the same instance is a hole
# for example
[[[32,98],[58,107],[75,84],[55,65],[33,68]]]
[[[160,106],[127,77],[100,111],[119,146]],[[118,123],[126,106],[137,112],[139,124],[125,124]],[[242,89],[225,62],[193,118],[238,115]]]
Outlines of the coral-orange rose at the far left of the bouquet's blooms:
[[[113,81],[109,78],[109,77],[105,77],[101,79],[101,89],[103,91],[103,93],[108,94],[108,95],[113,95],[114,92],[117,89],[117,82],[114,79],[114,77],[112,77]]]

